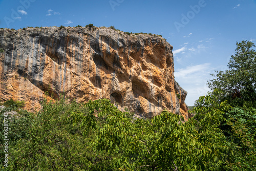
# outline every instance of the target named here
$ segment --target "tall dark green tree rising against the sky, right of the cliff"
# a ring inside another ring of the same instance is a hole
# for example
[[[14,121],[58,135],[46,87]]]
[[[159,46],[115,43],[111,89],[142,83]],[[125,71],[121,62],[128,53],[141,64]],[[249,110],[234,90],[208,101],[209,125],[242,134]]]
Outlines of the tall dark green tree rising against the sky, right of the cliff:
[[[208,81],[211,90],[219,89],[220,100],[230,105],[256,108],[256,52],[253,42],[237,42],[235,55],[231,55],[228,70],[216,71],[215,79]]]

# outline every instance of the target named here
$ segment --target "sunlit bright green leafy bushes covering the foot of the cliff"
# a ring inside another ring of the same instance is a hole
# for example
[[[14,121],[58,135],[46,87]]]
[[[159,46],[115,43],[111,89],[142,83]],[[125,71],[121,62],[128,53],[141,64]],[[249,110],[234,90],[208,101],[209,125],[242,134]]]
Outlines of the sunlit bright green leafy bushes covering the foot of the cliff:
[[[194,109],[200,114],[187,122],[166,110],[151,120],[134,120],[106,99],[86,104],[45,100],[38,113],[21,111],[9,123],[8,169],[222,169],[233,153],[219,127],[230,107],[214,99],[202,97]],[[11,105],[1,111],[1,123],[3,113],[12,110]]]

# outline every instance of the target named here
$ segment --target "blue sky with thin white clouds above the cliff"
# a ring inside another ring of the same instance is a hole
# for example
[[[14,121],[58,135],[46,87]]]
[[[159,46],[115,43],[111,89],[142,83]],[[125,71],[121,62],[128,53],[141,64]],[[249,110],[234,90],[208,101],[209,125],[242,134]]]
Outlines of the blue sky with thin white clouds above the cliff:
[[[0,28],[115,26],[161,34],[174,46],[175,79],[193,105],[215,70],[225,70],[236,42],[256,42],[256,0],[0,0]]]

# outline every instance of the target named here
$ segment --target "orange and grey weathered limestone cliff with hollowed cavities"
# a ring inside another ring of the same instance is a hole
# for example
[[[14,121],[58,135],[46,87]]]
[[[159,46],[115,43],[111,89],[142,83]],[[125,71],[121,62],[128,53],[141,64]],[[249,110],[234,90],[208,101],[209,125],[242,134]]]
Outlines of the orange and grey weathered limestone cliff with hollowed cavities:
[[[152,118],[163,109],[188,118],[174,79],[173,47],[162,37],[108,28],[0,30],[0,99],[41,108],[62,93],[69,101],[111,99],[120,109]],[[51,97],[52,94],[52,97]]]

